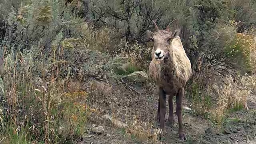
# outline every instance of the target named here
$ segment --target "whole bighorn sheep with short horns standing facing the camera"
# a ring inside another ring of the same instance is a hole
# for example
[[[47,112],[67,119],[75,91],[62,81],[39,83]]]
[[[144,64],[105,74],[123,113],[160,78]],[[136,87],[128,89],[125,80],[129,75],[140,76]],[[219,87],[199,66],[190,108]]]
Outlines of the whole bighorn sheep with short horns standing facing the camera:
[[[173,22],[173,21],[172,21]],[[170,24],[172,23],[170,22]],[[158,113],[160,129],[164,130],[164,119],[166,114],[166,94],[169,95],[169,117],[168,121],[173,125],[173,96],[176,96],[176,114],[178,116],[180,140],[186,140],[182,126],[182,99],[184,86],[192,75],[190,60],[188,59],[179,34],[180,29],[170,31],[170,24],[165,30],[158,30],[156,23],[155,32],[146,31],[146,35],[154,42],[152,48],[152,61],[149,65],[149,76],[158,86]]]

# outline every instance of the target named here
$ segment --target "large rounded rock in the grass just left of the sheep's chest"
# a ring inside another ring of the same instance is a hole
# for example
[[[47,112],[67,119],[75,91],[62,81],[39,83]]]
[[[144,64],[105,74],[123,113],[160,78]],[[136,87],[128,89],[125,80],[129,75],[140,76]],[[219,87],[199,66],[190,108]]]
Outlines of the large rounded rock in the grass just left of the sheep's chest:
[[[148,74],[143,71],[136,71],[132,74],[125,76],[129,82],[146,82],[148,80]]]

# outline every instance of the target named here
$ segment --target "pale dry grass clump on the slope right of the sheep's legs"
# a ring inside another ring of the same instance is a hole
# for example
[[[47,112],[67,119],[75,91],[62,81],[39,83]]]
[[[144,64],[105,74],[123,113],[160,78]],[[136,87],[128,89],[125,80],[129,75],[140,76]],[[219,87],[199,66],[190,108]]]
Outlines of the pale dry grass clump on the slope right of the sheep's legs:
[[[221,124],[229,112],[247,108],[246,98],[256,88],[255,75],[236,76],[235,82],[232,76],[226,76],[226,78],[222,77],[224,83],[219,84],[212,83],[209,79],[211,76],[206,79],[207,76],[209,74],[201,78],[193,78],[192,84],[188,86],[186,93],[192,100],[194,114]]]

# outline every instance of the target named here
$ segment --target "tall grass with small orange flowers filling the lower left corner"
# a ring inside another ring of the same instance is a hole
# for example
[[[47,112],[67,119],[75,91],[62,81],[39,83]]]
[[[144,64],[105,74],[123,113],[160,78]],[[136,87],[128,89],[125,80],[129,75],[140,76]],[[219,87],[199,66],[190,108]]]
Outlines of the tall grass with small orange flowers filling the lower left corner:
[[[1,143],[57,144],[79,140],[90,115],[86,106],[88,92],[70,92],[69,78],[58,75],[61,64],[56,61],[52,64],[58,65],[57,69],[39,78],[33,72],[42,66],[43,59],[33,62],[29,53],[23,53],[19,62],[12,60],[11,54],[6,55],[1,78]]]

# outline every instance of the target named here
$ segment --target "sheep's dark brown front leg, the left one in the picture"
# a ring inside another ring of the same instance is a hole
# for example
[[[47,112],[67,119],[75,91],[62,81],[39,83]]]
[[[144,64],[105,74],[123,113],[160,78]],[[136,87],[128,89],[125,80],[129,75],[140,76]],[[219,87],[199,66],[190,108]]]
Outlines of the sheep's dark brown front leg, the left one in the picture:
[[[164,118],[166,114],[166,93],[164,89],[159,88],[158,96],[160,101],[160,129],[164,130]]]

